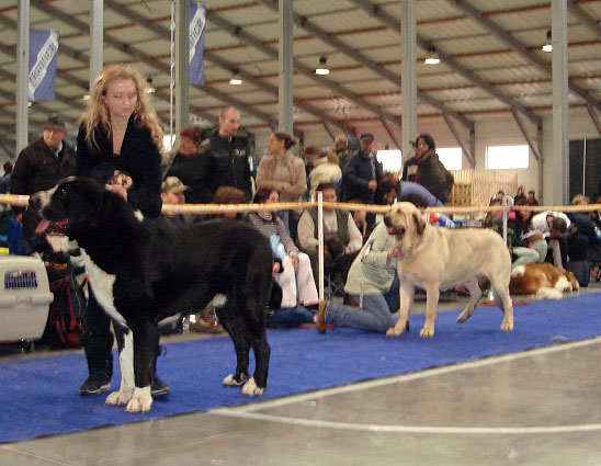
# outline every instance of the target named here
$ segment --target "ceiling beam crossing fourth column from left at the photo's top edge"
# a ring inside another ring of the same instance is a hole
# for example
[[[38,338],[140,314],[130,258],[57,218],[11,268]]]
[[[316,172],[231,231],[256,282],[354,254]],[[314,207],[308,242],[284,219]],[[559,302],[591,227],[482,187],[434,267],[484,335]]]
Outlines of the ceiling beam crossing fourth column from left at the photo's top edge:
[[[277,12],[277,0],[259,0],[262,4],[271,9],[272,11]],[[400,81],[401,76],[397,75],[396,72],[390,71],[388,68],[383,67],[365,54],[359,52],[356,48],[351,47],[347,43],[342,42],[338,37],[328,34],[325,30],[317,26],[316,24],[311,23],[310,20],[308,20],[306,16],[302,16],[297,13],[294,13],[294,22],[303,27],[305,31],[313,34],[315,37],[319,38],[321,42],[334,47],[337,50],[341,52],[342,54],[347,55],[348,57],[354,59],[355,61],[363,65],[365,68],[370,69],[371,71],[375,72],[377,76],[390,81],[398,88],[400,88]],[[399,30],[400,31],[400,26]],[[458,114],[453,109],[449,107],[446,104],[441,102],[438,99],[434,99],[431,95],[428,95],[423,92],[420,92],[418,89],[418,98],[426,102],[427,104],[440,110],[441,112],[446,112],[460,122],[466,126],[470,126],[472,122],[468,122],[468,118],[465,116]]]

